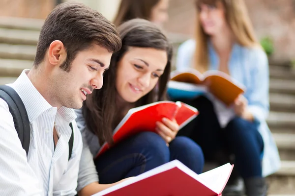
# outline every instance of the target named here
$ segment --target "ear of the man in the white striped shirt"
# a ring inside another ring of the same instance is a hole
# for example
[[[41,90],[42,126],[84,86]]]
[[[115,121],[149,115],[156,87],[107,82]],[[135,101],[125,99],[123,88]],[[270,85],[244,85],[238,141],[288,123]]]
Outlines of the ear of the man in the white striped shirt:
[[[48,49],[48,60],[52,65],[60,65],[66,59],[66,51],[61,41],[53,41]]]

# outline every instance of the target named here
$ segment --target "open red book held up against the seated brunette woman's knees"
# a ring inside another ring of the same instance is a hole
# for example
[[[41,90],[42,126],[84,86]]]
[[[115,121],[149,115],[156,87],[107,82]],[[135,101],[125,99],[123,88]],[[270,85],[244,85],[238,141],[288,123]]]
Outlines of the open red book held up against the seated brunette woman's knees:
[[[182,128],[198,115],[198,110],[180,101],[158,101],[130,109],[113,132],[114,144],[142,131],[156,133],[156,122],[162,119],[175,119]],[[109,149],[105,143],[96,157]]]

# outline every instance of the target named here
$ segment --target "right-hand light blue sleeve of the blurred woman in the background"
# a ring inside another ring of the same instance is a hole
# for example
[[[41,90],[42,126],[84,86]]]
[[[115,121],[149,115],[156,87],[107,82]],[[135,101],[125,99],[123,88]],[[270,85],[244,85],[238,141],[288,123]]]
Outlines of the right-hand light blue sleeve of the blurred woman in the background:
[[[250,56],[251,81],[248,92],[248,107],[256,122],[265,121],[269,114],[269,68],[266,53],[254,49]]]

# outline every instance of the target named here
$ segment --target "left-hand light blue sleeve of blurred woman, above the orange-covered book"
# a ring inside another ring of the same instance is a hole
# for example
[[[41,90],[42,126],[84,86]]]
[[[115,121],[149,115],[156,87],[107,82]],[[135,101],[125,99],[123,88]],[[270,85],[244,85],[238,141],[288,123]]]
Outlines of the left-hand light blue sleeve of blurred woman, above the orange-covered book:
[[[191,66],[195,46],[196,44],[194,40],[187,40],[178,47],[176,57],[177,71],[185,70]]]

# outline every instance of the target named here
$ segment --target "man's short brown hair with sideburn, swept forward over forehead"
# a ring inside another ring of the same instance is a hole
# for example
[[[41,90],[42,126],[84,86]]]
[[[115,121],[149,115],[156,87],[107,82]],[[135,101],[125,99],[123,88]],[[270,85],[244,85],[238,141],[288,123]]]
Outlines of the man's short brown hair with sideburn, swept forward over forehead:
[[[48,15],[40,31],[34,66],[43,61],[46,50],[55,40],[61,41],[66,49],[67,57],[60,68],[67,72],[77,53],[92,44],[110,52],[121,48],[116,26],[99,12],[78,2],[61,3]]]

